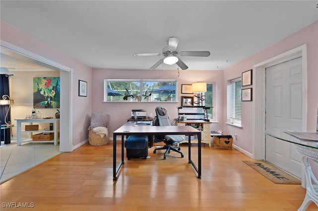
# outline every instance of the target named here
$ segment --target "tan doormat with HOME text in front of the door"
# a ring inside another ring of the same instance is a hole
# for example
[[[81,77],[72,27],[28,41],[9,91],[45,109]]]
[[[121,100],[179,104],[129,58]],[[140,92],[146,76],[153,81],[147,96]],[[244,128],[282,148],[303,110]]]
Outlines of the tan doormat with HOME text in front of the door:
[[[291,184],[300,185],[302,181],[298,178],[286,173],[285,171],[275,167],[274,165],[263,160],[246,161],[244,163],[252,167],[254,170],[262,174],[264,177],[275,184]]]

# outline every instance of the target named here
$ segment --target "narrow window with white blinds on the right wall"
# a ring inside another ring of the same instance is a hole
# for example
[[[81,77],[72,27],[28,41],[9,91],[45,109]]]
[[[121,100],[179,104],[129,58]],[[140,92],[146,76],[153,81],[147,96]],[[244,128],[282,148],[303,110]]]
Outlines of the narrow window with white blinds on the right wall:
[[[228,82],[228,119],[241,124],[241,77]]]

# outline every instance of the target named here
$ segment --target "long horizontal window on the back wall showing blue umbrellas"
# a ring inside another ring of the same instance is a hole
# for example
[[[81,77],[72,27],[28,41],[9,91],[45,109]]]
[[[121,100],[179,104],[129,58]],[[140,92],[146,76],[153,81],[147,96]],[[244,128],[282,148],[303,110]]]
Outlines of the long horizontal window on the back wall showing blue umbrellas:
[[[104,102],[177,102],[176,80],[104,80]]]

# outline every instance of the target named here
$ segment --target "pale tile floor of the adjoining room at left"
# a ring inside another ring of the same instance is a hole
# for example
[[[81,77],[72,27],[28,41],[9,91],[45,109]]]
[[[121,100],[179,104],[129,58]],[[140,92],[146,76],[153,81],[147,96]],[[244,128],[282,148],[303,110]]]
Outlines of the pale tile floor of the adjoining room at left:
[[[52,143],[23,143],[16,146],[15,140],[6,145],[1,142],[0,183],[58,154],[59,146]]]

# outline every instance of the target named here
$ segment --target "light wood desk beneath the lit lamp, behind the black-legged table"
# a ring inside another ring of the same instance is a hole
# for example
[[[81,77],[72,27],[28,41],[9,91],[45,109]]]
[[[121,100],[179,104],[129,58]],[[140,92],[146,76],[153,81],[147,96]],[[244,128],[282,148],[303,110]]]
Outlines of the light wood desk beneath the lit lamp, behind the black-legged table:
[[[210,124],[211,122],[204,121],[204,120],[198,120],[198,119],[189,119],[187,121],[180,121],[177,122],[178,126],[194,126],[195,129],[198,129],[201,131],[201,143],[208,144],[209,147],[211,147],[211,130],[210,130]],[[181,143],[188,143],[187,139],[184,139],[184,141]],[[198,139],[191,139],[191,143],[198,143]]]

